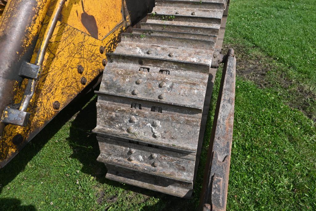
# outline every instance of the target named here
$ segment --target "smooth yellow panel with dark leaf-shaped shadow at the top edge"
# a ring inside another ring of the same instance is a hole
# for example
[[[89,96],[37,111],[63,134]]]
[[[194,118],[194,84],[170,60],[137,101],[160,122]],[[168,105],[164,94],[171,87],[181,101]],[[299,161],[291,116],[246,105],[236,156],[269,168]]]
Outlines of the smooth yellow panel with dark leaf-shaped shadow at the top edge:
[[[61,21],[102,40],[124,20],[122,0],[68,0]]]

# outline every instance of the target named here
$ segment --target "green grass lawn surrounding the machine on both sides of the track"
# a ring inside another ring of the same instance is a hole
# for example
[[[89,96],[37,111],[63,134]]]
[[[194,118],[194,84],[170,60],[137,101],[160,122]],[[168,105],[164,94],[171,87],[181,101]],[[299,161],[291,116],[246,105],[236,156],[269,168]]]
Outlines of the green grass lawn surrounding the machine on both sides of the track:
[[[239,67],[228,210],[316,209],[315,5],[231,0],[224,46]],[[219,77],[191,200],[105,179],[90,94],[0,169],[0,210],[194,210]]]

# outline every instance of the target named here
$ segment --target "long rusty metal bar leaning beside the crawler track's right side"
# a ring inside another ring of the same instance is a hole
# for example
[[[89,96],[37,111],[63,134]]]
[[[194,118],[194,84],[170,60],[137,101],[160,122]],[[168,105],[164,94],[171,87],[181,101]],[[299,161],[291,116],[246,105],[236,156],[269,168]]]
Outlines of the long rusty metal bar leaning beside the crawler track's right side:
[[[204,170],[199,210],[226,210],[231,145],[234,125],[236,59],[228,51],[217,99],[210,145]]]

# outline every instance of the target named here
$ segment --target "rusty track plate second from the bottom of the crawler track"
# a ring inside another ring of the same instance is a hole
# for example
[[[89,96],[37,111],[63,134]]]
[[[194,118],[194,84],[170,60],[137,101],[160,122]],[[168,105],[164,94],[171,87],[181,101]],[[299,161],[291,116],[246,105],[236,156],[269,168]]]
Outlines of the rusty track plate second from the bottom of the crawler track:
[[[98,157],[100,162],[180,182],[193,181],[194,172],[190,169],[194,168],[194,156],[174,157],[164,150],[137,144],[123,145],[120,141],[100,137],[99,144],[102,149]]]

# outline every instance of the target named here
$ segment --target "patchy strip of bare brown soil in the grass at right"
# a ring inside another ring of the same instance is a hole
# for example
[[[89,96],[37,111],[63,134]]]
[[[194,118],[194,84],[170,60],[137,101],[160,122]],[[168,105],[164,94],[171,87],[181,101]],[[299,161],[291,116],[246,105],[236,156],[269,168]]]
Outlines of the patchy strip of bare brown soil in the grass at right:
[[[277,65],[277,62],[261,52],[259,48],[245,47],[242,44],[224,44],[223,51],[234,48],[236,74],[253,81],[259,88],[272,88],[283,96],[287,105],[302,111],[316,122],[316,93],[310,87],[287,77],[290,67]]]

